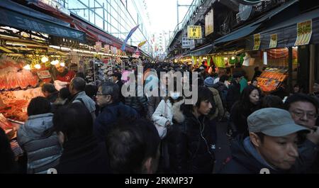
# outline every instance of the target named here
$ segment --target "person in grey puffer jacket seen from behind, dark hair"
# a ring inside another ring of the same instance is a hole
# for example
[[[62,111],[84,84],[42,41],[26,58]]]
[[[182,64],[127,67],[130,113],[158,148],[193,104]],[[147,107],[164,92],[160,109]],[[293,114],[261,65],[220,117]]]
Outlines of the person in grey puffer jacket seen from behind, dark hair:
[[[28,121],[18,130],[18,144],[28,157],[28,174],[47,174],[58,165],[62,147],[53,133],[50,102],[38,96],[28,105]]]

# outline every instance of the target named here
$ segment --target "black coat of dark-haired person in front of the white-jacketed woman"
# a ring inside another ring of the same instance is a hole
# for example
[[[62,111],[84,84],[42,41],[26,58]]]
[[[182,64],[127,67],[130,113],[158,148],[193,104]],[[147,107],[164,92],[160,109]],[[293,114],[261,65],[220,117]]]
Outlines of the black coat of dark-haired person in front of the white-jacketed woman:
[[[184,123],[175,126],[174,143],[176,173],[211,174],[215,155],[212,150],[213,133],[208,118],[186,115]],[[201,133],[202,131],[202,133]]]

